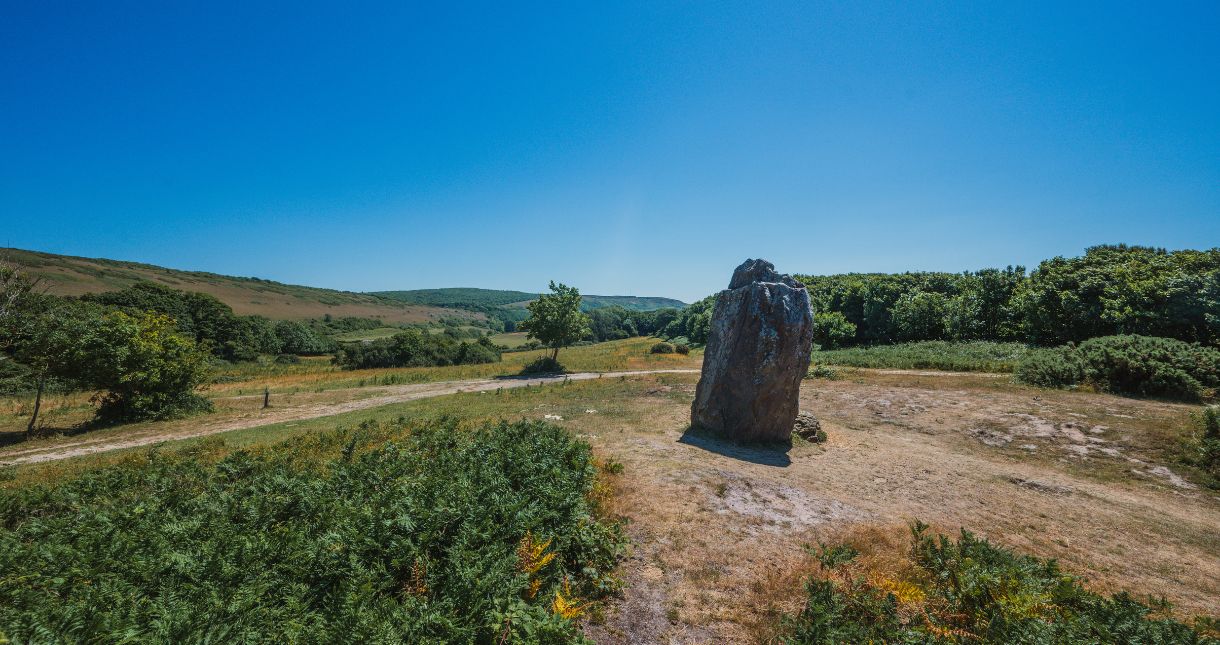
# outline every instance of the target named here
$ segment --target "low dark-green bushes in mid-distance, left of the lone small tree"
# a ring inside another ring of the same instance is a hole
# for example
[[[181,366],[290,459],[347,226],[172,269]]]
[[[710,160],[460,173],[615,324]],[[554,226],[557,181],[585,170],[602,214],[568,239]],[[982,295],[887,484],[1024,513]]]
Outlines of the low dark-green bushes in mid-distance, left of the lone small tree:
[[[344,344],[334,363],[344,369],[494,363],[500,361],[500,352],[487,337],[468,343],[449,334],[409,329],[390,338]]]

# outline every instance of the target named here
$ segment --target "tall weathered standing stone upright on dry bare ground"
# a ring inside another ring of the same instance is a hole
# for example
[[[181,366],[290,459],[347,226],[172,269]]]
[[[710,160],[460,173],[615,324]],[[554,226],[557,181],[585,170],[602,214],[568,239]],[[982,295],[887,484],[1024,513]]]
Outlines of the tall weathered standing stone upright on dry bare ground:
[[[791,440],[813,346],[805,285],[747,260],[716,296],[691,426],[743,441]]]

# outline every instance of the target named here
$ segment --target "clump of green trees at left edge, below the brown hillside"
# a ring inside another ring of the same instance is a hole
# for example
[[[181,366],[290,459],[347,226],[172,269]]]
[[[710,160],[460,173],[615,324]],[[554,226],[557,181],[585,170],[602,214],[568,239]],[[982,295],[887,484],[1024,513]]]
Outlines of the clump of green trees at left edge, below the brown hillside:
[[[60,298],[0,265],[0,382],[33,391],[27,433],[50,389],[98,391],[96,422],[170,418],[211,407],[195,390],[217,360],[333,346],[310,324],[237,316],[207,294],[137,283]]]

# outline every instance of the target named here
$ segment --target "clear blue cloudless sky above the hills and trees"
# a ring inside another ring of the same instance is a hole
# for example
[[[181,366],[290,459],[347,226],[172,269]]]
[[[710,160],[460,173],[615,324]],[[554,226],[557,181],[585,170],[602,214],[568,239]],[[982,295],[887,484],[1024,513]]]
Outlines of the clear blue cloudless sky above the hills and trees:
[[[440,5],[4,2],[0,246],[693,300],[1220,245],[1220,2]]]

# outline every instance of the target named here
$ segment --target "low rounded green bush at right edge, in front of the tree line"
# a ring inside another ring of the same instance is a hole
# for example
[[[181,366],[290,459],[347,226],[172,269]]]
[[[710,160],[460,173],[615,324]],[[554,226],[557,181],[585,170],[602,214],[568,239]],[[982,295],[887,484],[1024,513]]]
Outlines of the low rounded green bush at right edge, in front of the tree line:
[[[1170,338],[1121,335],[1031,352],[1016,379],[1044,388],[1089,383],[1139,396],[1198,400],[1220,387],[1220,350]]]

